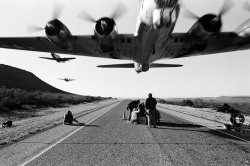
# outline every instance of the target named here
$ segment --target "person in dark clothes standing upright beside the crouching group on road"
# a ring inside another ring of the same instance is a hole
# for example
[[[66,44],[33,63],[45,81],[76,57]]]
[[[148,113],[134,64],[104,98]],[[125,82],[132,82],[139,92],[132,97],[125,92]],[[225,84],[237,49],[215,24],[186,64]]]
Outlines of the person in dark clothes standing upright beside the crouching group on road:
[[[155,111],[156,111],[157,101],[152,97],[152,94],[148,94],[148,98],[145,102],[145,107],[147,110],[147,118],[148,118],[148,127],[151,127],[153,124],[154,128],[156,128],[156,119],[155,119]]]

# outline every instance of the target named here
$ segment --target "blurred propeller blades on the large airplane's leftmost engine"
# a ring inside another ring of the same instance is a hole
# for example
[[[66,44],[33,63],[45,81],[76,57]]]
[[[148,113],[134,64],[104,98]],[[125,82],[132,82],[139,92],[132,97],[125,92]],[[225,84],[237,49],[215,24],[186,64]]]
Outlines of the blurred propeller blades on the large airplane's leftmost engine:
[[[54,4],[54,10],[53,10],[53,14],[52,14],[52,20],[58,20],[58,18],[60,17],[60,15],[62,14],[64,5],[57,2]],[[44,29],[47,28],[47,25],[45,27],[41,27],[41,26],[35,26],[35,25],[29,25],[26,28],[26,32],[28,33],[33,33],[33,32],[39,32],[42,31]]]

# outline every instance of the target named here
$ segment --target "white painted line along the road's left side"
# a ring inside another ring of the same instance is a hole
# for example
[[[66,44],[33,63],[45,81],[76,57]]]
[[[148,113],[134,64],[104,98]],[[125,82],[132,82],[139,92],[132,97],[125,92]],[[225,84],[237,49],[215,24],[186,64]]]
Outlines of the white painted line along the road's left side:
[[[109,109],[108,111],[110,111],[111,109]],[[100,116],[104,115],[105,113],[107,113],[108,111],[105,111],[104,113],[102,113],[101,115],[97,116],[96,118],[92,119],[91,121],[89,121],[87,124],[93,122],[94,120],[96,120],[97,118],[99,118]],[[60,139],[59,141],[57,141],[56,143],[52,144],[51,146],[49,146],[48,148],[44,149],[43,151],[41,151],[40,153],[38,153],[37,155],[35,155],[34,157],[32,157],[31,159],[25,161],[23,164],[21,164],[20,166],[25,166],[26,164],[30,163],[31,161],[35,160],[37,157],[41,156],[42,154],[44,154],[45,152],[47,152],[48,150],[50,150],[51,148],[53,148],[54,146],[56,146],[57,144],[59,144],[60,142],[64,141],[65,139],[67,139],[68,137],[70,137],[71,135],[75,134],[77,131],[81,130],[82,128],[84,128],[86,125],[76,129],[75,131],[73,131],[72,133],[70,133],[69,135],[67,135],[66,137]]]

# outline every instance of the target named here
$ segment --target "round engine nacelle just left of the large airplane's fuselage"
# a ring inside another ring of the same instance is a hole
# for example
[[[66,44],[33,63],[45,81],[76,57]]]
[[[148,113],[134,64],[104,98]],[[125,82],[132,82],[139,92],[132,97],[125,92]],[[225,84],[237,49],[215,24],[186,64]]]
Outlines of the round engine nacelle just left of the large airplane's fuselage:
[[[108,17],[99,19],[94,25],[94,37],[104,52],[112,51],[118,37],[115,21]]]

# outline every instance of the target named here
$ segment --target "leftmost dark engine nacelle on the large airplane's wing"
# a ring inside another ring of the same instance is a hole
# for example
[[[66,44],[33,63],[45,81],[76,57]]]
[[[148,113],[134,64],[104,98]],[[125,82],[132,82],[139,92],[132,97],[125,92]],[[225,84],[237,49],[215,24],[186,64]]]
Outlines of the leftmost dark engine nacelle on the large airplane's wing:
[[[55,19],[48,22],[45,27],[45,33],[48,40],[58,47],[67,51],[73,50],[72,35],[61,21]]]

